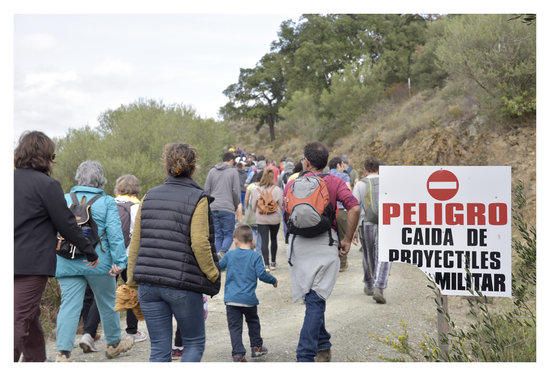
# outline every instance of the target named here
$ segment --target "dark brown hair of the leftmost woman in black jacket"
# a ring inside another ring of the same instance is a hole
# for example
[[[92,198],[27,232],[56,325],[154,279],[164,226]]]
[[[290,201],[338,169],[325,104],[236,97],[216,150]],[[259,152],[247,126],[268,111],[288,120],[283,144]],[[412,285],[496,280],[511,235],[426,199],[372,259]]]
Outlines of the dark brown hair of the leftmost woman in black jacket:
[[[15,168],[32,168],[50,175],[55,158],[55,144],[39,131],[25,132],[14,152]]]

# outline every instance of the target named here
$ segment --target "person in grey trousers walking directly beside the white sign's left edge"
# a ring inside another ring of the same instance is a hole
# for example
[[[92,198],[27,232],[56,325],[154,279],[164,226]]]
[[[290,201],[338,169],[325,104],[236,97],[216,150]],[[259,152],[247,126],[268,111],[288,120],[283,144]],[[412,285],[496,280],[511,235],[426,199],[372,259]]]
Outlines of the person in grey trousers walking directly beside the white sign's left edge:
[[[379,304],[385,304],[384,289],[388,285],[389,262],[378,261],[378,169],[380,161],[376,158],[365,160],[365,177],[353,190],[361,205],[359,238],[363,247],[363,291]]]

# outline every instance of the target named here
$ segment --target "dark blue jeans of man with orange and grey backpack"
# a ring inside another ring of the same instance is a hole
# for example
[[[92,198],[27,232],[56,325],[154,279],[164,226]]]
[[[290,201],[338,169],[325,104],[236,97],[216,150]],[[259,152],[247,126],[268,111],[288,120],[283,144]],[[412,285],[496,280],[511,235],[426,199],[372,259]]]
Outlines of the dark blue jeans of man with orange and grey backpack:
[[[326,302],[310,290],[305,296],[306,314],[296,348],[298,362],[313,362],[318,351],[331,348],[330,334],[325,329]]]

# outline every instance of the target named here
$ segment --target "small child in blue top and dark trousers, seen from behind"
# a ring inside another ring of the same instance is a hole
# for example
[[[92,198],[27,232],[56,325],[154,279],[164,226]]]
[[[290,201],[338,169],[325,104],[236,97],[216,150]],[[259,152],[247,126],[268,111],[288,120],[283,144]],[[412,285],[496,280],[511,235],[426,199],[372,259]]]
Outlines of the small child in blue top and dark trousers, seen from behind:
[[[256,286],[260,279],[277,287],[277,279],[265,271],[262,256],[253,251],[250,226],[238,226],[233,233],[233,240],[237,248],[227,252],[220,261],[220,268],[227,269],[223,300],[227,311],[233,361],[246,362],[242,338],[243,316],[248,326],[251,356],[256,358],[267,354],[267,348],[263,346],[260,335],[260,302],[256,297]]]

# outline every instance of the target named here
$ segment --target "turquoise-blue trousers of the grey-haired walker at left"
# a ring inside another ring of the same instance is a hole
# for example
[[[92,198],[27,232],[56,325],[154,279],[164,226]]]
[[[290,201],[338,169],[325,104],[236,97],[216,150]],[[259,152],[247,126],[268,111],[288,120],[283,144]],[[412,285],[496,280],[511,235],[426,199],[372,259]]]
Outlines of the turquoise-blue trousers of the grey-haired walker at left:
[[[56,328],[57,351],[73,349],[86,285],[89,285],[94,293],[107,344],[118,344],[120,341],[120,314],[115,311],[115,277],[105,274],[60,277],[57,280],[61,288],[61,307],[57,314]]]

